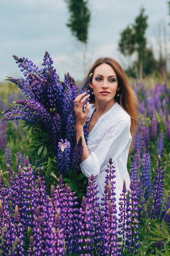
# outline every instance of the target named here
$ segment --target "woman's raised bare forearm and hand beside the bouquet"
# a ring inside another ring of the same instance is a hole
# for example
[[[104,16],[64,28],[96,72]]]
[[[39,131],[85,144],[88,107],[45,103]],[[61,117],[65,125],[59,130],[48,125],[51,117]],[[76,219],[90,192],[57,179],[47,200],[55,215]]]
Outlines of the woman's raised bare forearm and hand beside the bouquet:
[[[89,114],[89,102],[86,104],[86,110],[83,113],[83,104],[87,99],[89,98],[89,94],[85,96],[86,92],[78,95],[76,99],[74,100],[74,111],[76,114],[76,124],[75,124],[75,131],[76,131],[76,141],[78,143],[78,140],[82,136],[82,144],[83,144],[83,153],[81,156],[81,162],[83,162],[87,157],[89,157],[89,150],[87,148],[87,144],[85,142],[85,136],[83,132],[83,126],[87,120],[88,114]],[[84,97],[82,99],[82,97]]]

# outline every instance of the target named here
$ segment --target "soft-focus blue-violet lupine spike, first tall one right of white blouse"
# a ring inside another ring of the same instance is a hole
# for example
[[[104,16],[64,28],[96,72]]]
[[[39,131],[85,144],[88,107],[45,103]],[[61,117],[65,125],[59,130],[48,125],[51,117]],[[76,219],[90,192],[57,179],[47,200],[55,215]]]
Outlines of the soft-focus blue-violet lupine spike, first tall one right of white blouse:
[[[144,197],[146,202],[151,195],[151,160],[149,147],[146,148],[142,158],[141,184],[143,190],[145,190]]]

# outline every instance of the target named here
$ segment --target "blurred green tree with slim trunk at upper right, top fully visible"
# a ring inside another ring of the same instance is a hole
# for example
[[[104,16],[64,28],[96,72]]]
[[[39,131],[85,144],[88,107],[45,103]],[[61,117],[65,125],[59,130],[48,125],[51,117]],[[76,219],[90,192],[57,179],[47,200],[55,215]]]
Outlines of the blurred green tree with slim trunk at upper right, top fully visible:
[[[144,15],[145,9],[141,9],[139,16],[136,17],[132,27],[128,26],[121,32],[119,40],[119,50],[125,56],[130,56],[136,52],[139,62],[139,77],[143,77],[143,61],[146,48],[145,31],[148,27],[148,16]]]

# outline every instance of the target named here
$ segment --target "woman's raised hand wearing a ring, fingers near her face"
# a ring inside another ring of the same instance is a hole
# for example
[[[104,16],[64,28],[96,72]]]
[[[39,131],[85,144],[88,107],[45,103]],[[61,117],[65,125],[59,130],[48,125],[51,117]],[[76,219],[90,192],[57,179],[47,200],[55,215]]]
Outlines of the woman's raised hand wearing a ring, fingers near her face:
[[[88,94],[87,96],[85,95],[86,95],[86,92],[83,92],[82,94],[78,95],[74,100],[74,111],[76,114],[75,128],[83,126],[89,114],[89,102],[87,101],[87,99],[89,98],[90,94]],[[83,113],[83,104],[85,103],[85,101],[87,101],[86,110]]]

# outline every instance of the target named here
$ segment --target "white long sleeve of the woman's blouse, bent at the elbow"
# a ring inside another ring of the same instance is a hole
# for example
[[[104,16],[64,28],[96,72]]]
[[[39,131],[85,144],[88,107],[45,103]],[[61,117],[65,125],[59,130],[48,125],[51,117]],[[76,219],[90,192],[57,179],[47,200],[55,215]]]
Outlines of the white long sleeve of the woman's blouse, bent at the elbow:
[[[110,157],[114,161],[131,141],[130,116],[127,113],[111,119],[110,125],[106,127],[103,137],[91,148],[89,157],[80,164],[86,177],[104,171]]]

